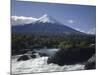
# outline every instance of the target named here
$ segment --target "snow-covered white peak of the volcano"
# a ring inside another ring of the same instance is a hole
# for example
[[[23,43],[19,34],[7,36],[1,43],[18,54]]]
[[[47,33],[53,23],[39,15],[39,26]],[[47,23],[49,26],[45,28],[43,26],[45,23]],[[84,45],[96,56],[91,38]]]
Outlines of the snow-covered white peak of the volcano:
[[[56,23],[57,21],[53,19],[51,16],[48,16],[47,14],[44,14],[42,17],[38,19],[38,22],[42,23]]]

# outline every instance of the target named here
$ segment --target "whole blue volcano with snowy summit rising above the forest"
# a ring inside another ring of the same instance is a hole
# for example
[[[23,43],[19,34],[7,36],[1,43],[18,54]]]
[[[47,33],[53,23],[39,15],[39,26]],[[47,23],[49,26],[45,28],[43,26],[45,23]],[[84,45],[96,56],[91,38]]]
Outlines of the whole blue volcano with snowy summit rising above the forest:
[[[84,33],[65,26],[48,15],[43,15],[36,22],[29,24],[12,25],[12,32],[45,36],[84,35]]]

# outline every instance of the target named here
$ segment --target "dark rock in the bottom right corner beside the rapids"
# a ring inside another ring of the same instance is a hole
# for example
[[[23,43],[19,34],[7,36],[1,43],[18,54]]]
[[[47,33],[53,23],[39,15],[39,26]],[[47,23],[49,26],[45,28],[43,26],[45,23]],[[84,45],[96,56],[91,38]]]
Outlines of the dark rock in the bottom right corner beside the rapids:
[[[85,69],[89,70],[89,69],[96,69],[96,56],[93,55],[87,62],[85,65]]]

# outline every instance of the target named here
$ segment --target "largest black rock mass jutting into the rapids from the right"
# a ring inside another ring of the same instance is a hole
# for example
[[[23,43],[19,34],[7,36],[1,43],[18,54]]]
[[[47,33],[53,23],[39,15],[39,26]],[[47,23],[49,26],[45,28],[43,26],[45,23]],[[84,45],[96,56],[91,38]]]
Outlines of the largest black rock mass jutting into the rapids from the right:
[[[95,48],[69,48],[59,50],[54,56],[48,58],[47,63],[58,65],[71,65],[86,62],[95,53]]]

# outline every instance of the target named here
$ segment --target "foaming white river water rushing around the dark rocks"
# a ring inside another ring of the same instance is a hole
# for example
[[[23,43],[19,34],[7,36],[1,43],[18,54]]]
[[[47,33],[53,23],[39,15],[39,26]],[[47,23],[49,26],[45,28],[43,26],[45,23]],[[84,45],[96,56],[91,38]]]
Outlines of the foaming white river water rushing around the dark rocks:
[[[53,55],[58,49],[49,49],[49,50],[38,50],[37,52],[43,52],[48,55]],[[70,70],[83,70],[84,65],[64,65],[59,66],[57,64],[47,64],[48,57],[40,57],[37,55],[37,58],[30,59],[27,61],[17,61],[19,56],[14,56],[12,58],[12,74],[19,73],[38,73],[38,72],[54,72],[54,71],[70,71]]]

